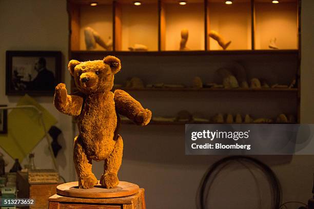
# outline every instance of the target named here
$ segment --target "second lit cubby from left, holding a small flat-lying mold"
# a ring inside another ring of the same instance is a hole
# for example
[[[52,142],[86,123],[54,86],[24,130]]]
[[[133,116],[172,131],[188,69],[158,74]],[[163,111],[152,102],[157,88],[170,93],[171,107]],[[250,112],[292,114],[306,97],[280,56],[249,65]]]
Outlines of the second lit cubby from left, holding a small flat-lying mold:
[[[135,6],[133,1],[114,2],[114,49],[158,51],[158,0]]]

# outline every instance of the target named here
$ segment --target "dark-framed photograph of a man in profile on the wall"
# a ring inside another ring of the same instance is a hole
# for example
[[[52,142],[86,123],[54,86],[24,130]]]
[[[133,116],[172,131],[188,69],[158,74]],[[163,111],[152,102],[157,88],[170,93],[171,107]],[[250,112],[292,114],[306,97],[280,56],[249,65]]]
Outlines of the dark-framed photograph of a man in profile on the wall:
[[[52,96],[61,82],[60,51],[7,51],[6,95]]]

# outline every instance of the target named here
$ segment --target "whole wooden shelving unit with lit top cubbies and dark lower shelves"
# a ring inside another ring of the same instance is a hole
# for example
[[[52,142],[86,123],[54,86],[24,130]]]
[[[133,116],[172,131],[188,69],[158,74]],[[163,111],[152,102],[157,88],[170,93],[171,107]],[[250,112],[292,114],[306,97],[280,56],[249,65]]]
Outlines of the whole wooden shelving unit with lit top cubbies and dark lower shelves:
[[[175,115],[180,110],[201,112],[207,118],[216,113],[250,113],[256,118],[276,118],[278,114],[286,113],[295,115],[300,122],[299,1],[281,0],[275,5],[268,0],[239,0],[225,5],[223,0],[188,0],[187,5],[180,6],[176,0],[147,0],[139,7],[132,5],[131,0],[96,2],[99,5],[91,7],[88,0],[68,0],[69,57],[81,61],[107,55],[119,57],[122,71],[116,75],[115,83],[123,85],[135,76],[146,83],[186,86],[120,88],[134,94],[155,116]],[[82,33],[84,27],[94,28],[105,40],[111,36],[113,50],[97,47],[87,51]],[[189,30],[189,51],[179,51],[183,28]],[[210,30],[231,40],[227,50],[222,50],[208,36]],[[274,37],[277,37],[278,50],[268,49],[269,39]],[[144,44],[148,51],[128,51],[134,44]],[[234,62],[245,67],[248,82],[258,77],[266,78],[270,85],[289,85],[296,79],[297,86],[292,89],[190,88],[194,76],[200,76],[203,83],[221,82],[215,71],[228,68]]]

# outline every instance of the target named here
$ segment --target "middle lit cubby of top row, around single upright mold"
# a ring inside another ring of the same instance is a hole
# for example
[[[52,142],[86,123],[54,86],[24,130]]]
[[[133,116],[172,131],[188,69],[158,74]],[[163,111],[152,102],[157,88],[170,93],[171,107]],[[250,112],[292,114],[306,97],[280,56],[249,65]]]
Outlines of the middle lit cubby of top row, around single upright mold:
[[[175,0],[160,1],[160,50],[180,50],[181,31],[188,31],[188,50],[205,50],[204,1],[191,0],[186,5]]]

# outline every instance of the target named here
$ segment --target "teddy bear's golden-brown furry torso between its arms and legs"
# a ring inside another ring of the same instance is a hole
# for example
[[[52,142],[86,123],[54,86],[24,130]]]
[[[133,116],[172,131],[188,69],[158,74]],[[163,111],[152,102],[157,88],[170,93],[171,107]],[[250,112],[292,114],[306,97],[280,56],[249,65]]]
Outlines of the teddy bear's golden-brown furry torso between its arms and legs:
[[[112,92],[86,95],[77,126],[87,154],[93,160],[108,158],[115,144],[117,116]]]

